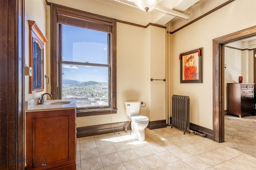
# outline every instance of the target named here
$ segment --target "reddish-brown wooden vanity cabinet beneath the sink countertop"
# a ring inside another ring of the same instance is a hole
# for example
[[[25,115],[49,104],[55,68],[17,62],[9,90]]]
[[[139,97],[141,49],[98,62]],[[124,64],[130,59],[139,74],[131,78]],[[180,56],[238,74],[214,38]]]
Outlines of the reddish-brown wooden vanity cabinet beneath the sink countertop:
[[[76,170],[76,110],[26,113],[28,170]]]

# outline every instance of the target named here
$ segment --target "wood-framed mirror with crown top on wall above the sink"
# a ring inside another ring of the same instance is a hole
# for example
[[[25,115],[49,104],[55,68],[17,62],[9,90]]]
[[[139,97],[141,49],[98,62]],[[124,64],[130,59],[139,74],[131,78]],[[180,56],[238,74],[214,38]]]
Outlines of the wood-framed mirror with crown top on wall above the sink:
[[[44,91],[44,37],[35,21],[28,20],[30,29],[30,93]]]

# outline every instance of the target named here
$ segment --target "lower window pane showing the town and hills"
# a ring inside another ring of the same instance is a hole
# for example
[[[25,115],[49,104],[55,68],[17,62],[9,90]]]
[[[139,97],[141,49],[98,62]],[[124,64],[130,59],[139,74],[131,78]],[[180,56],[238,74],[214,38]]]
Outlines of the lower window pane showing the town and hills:
[[[77,107],[109,106],[108,67],[62,64],[62,98]]]

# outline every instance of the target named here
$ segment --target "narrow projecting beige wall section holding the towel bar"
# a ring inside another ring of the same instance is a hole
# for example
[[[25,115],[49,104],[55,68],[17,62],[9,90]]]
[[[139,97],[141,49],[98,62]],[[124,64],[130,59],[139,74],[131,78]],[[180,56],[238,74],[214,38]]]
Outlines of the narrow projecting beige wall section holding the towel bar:
[[[146,29],[146,46],[148,60],[147,86],[149,88],[148,99],[150,99],[150,109],[148,109],[148,117],[150,121],[166,119],[165,108],[165,85],[166,82],[161,79],[166,79],[165,76],[165,61],[166,61],[166,45],[165,36],[166,29],[150,26]],[[150,81],[150,78],[160,79]]]

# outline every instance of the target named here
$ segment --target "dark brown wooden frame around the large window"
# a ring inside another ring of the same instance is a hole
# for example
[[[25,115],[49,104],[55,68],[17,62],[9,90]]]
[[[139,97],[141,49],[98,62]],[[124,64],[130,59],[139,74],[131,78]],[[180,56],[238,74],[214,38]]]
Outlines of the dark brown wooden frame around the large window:
[[[97,21],[99,23],[104,23],[112,26],[111,44],[112,44],[112,55],[110,55],[110,69],[109,69],[109,106],[107,108],[96,108],[96,109],[76,109],[77,117],[91,116],[91,115],[105,115],[117,113],[116,109],[116,19],[108,18],[105,16],[100,16],[97,14],[92,14],[89,12],[84,12],[81,10],[76,10],[74,8],[68,8],[65,6],[59,6],[56,4],[51,4],[51,94],[52,99],[60,99],[62,94],[61,81],[59,74],[61,72],[61,64],[59,62],[61,57],[61,44],[59,44],[59,39],[61,38],[61,30],[58,26],[58,15],[67,15],[74,18],[81,18],[82,20],[88,19],[92,21]],[[76,25],[74,25],[76,26]],[[60,33],[60,34],[59,34]],[[55,56],[55,57],[54,57]],[[73,62],[74,63],[74,62]]]

